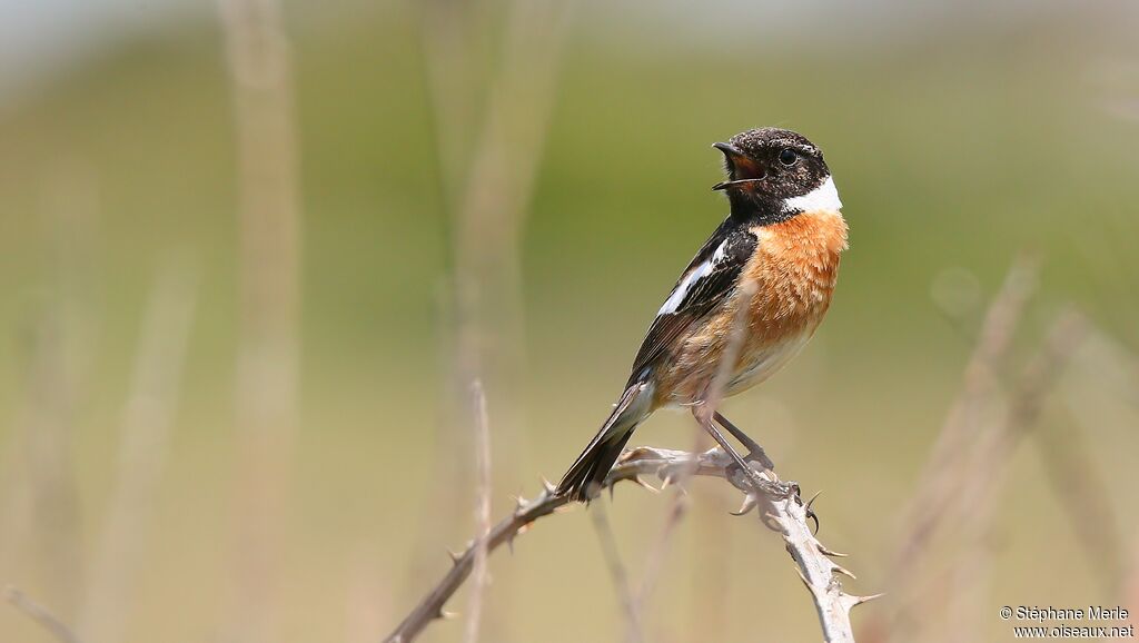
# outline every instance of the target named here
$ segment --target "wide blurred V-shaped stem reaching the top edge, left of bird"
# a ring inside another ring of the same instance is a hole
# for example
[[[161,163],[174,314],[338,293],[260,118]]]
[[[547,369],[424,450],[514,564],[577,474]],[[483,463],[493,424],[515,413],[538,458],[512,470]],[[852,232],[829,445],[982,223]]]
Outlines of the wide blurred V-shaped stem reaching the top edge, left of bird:
[[[525,436],[517,430],[519,407],[508,397],[519,388],[514,384],[525,363],[517,349],[525,343],[517,242],[544,145],[567,31],[567,5],[511,0],[503,30],[478,29],[485,25],[475,21],[486,7],[477,2],[426,0],[419,7],[441,164],[440,193],[450,220],[445,332],[452,336],[443,355],[450,356],[451,377],[443,415],[457,416],[457,409],[466,408],[465,401],[456,400],[476,376],[491,384],[505,381],[492,391],[499,391],[493,396],[500,436],[495,462],[498,471],[508,471],[510,451],[525,446]],[[481,52],[477,33],[500,32],[502,42],[494,48],[501,51],[500,63],[484,78],[474,63]],[[489,89],[483,92],[483,88]],[[477,114],[485,114],[481,123]],[[490,342],[500,349],[493,363],[483,364],[482,352]],[[437,454],[431,491],[436,505],[466,502],[457,496],[465,488],[459,481],[468,464],[461,425],[461,421],[436,425],[436,441],[449,446]],[[433,555],[439,544],[434,535],[456,528],[453,516],[434,516],[429,526],[424,523],[413,565],[428,564],[427,554]]]

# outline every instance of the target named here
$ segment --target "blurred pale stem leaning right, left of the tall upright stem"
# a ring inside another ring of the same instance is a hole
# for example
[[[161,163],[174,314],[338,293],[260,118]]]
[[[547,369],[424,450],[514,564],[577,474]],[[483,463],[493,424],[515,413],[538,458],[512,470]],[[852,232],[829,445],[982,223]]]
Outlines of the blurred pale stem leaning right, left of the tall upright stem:
[[[107,510],[80,612],[89,643],[123,640],[132,584],[145,547],[174,422],[180,374],[195,307],[195,277],[185,266],[155,282],[142,323],[123,414],[118,479]]]

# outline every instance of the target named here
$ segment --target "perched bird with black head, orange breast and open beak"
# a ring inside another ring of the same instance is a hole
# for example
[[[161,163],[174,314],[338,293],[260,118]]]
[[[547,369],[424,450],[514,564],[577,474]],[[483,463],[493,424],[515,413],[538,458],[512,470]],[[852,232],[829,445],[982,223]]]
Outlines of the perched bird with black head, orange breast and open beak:
[[[761,128],[713,147],[728,180],[712,189],[728,195],[731,213],[661,306],[624,393],[558,494],[592,497],[637,425],[662,407],[690,407],[721,445],[713,422],[765,458],[706,402],[767,380],[811,339],[830,306],[846,222],[822,152],[805,137]],[[726,352],[735,364],[716,380]]]

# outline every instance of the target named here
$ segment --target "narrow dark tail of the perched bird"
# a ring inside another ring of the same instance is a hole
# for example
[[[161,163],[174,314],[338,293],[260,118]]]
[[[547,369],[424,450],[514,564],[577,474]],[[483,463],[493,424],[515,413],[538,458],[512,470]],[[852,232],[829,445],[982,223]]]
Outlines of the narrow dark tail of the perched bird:
[[[649,385],[644,382],[625,389],[601,430],[562,477],[555,491],[557,495],[568,494],[573,500],[585,502],[600,489],[621,450],[625,448],[625,442],[633,434],[633,429],[648,416],[652,397]]]

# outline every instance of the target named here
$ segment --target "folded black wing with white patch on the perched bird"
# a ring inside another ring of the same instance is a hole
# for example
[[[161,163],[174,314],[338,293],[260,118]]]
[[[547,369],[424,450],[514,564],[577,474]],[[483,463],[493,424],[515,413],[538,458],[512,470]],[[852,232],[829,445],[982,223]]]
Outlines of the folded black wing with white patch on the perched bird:
[[[633,360],[630,383],[644,379],[686,331],[728,299],[756,244],[755,235],[730,217],[716,228],[681,274],[649,326]]]

